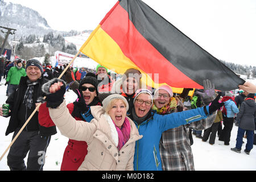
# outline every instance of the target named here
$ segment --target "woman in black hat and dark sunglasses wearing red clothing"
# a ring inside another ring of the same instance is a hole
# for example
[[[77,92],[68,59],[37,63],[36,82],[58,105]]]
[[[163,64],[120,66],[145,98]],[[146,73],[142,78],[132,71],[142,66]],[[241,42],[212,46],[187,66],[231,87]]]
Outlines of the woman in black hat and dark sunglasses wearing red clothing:
[[[44,85],[43,89],[46,90],[46,88],[53,84],[53,82],[49,81],[49,84]],[[55,82],[57,82],[57,80],[55,80]],[[101,102],[98,99],[97,86],[98,82],[96,77],[93,77],[93,75],[85,76],[80,81],[79,88],[73,90],[77,94],[78,98],[75,102],[68,104],[67,108],[72,117],[77,121],[90,122],[93,119],[90,107],[101,105]],[[40,106],[39,123],[41,126],[53,126],[55,124],[49,117],[49,111],[46,105],[47,104],[42,104],[42,106]],[[48,105],[51,105],[51,103],[48,102]],[[85,141],[69,139],[68,146],[64,151],[60,170],[77,171],[88,152],[87,147],[88,146]]]

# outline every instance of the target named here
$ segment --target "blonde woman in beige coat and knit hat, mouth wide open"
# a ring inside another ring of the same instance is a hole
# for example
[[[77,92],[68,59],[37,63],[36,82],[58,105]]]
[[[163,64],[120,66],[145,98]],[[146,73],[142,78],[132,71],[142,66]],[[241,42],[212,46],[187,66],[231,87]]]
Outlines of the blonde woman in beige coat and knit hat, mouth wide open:
[[[51,85],[49,92],[65,89],[61,85],[60,82]],[[106,97],[102,105],[90,107],[94,119],[89,123],[76,121],[69,114],[65,100],[56,109],[49,107],[49,114],[62,135],[88,143],[88,154],[79,170],[133,170],[135,141],[142,135],[126,117],[129,105],[120,94]]]

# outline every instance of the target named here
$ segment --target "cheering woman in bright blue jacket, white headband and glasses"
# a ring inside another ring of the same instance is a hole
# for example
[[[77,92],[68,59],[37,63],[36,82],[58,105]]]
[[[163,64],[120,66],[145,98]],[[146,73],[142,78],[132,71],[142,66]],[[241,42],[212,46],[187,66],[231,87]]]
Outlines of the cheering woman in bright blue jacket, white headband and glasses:
[[[137,90],[134,107],[129,116],[137,126],[139,134],[143,135],[135,144],[134,170],[162,171],[159,155],[159,142],[163,131],[207,118],[224,103],[214,100],[210,106],[197,109],[159,115],[152,113],[153,97],[150,90]]]

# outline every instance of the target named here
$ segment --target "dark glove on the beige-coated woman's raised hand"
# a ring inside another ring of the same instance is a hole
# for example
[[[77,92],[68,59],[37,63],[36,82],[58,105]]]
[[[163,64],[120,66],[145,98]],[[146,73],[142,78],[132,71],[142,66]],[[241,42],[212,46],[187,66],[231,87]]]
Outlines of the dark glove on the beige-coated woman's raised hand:
[[[50,93],[49,88],[51,87],[51,85],[55,84],[56,82],[62,82],[63,86],[61,86],[60,90],[58,90],[57,92]],[[66,83],[61,79],[53,78],[52,80],[46,82],[46,84],[42,86],[42,91],[46,94],[46,102],[47,102],[46,106],[51,108],[56,108],[64,100],[64,94],[66,92]]]

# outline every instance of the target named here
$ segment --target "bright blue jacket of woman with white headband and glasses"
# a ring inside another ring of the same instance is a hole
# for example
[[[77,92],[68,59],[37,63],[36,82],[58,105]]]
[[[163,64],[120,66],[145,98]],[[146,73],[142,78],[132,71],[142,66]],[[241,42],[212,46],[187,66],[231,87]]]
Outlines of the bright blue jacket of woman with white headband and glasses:
[[[207,106],[209,113],[209,106]],[[159,142],[162,133],[168,129],[185,125],[200,119],[207,118],[203,107],[187,110],[180,113],[159,115],[152,113],[152,117],[142,122],[135,123],[142,139],[137,140],[134,152],[134,170],[136,171],[162,171],[159,155]]]

